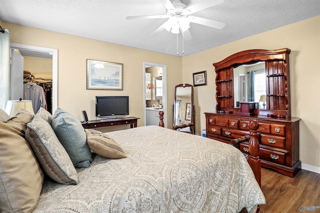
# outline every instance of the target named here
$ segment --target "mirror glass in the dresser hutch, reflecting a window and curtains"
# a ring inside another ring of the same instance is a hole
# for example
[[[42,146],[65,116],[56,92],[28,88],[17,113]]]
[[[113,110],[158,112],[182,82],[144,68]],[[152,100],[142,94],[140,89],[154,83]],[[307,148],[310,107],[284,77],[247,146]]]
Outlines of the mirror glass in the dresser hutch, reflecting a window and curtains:
[[[259,109],[266,105],[265,62],[242,64],[233,68],[234,107],[240,102],[258,102]]]

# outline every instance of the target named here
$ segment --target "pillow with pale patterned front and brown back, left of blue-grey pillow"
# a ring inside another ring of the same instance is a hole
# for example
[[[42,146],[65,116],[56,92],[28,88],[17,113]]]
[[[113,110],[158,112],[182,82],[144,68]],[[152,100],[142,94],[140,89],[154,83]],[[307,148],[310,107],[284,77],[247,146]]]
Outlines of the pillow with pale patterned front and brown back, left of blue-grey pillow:
[[[45,174],[60,184],[77,184],[77,174],[50,124],[38,116],[27,124],[25,138]]]

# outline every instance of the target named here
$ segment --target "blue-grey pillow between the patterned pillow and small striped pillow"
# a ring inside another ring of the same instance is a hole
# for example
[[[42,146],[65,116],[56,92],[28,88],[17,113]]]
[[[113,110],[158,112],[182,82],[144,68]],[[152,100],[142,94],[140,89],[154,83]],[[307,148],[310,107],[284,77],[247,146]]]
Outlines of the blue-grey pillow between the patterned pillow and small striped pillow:
[[[58,108],[53,115],[52,129],[70,156],[74,167],[89,167],[92,161],[91,152],[86,143],[85,132],[79,119]]]

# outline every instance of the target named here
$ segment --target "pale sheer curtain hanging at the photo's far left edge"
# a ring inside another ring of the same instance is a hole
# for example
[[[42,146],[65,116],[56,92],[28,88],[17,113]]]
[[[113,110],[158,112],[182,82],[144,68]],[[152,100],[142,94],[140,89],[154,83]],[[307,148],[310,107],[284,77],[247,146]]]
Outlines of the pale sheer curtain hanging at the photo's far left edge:
[[[10,31],[0,32],[0,109],[10,99]]]

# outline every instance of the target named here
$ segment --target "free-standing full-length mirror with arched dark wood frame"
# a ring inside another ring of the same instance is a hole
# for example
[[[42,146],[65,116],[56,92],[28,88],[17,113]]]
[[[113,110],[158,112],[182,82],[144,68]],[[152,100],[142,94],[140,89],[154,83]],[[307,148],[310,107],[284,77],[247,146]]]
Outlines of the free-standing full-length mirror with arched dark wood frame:
[[[193,110],[193,86],[190,84],[176,85],[174,93],[173,129],[193,134]],[[187,125],[190,123],[192,123],[192,125]]]

